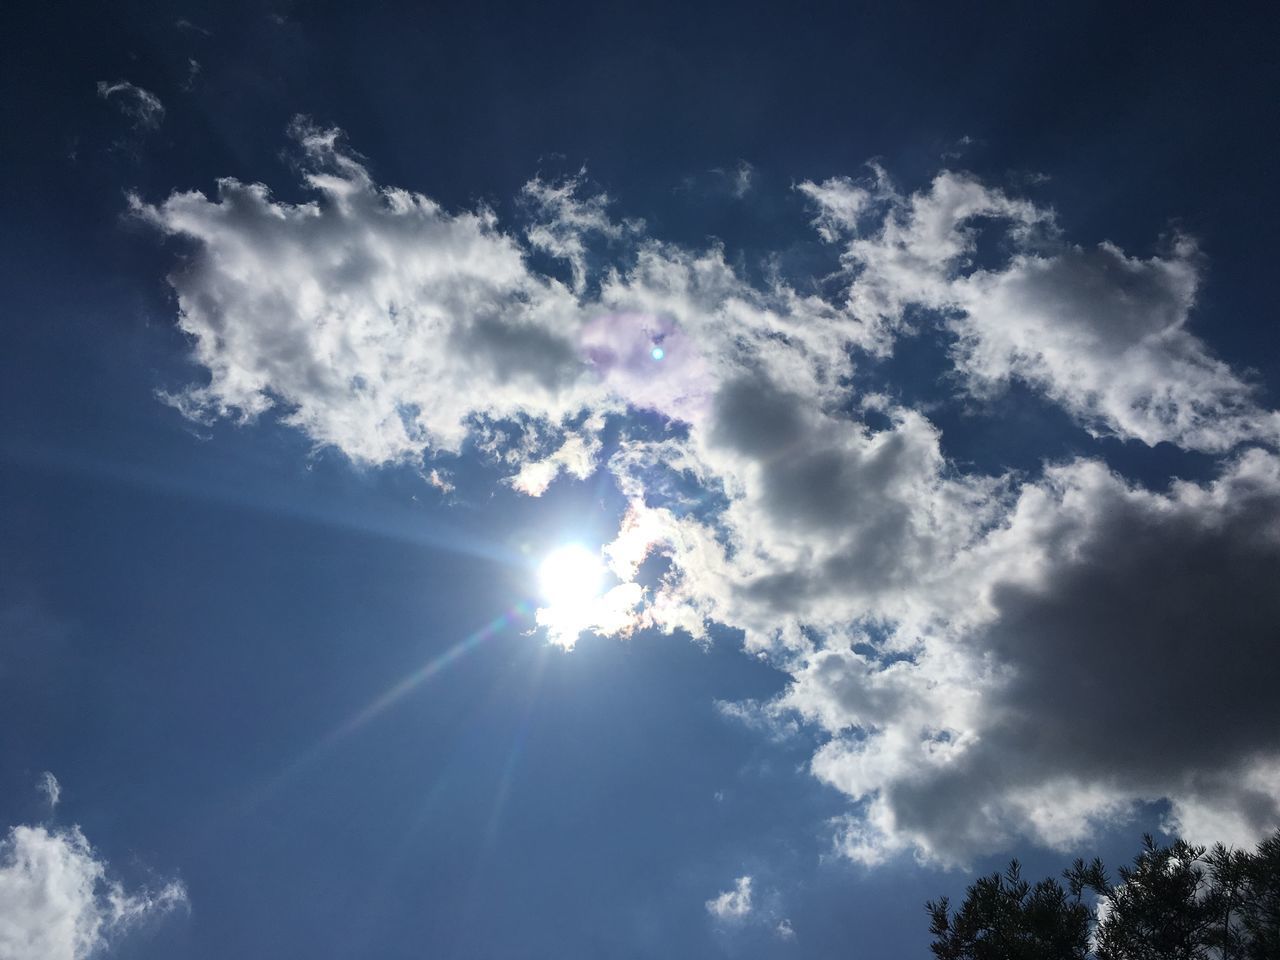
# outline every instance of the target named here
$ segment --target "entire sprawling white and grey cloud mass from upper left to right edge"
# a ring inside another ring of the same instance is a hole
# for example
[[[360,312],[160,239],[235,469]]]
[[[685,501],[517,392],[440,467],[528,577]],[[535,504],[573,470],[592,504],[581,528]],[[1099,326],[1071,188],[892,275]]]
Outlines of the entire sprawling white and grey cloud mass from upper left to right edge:
[[[605,554],[635,589],[552,639],[741,631],[791,682],[736,713],[820,732],[849,856],[1070,846],[1160,800],[1189,836],[1276,824],[1280,421],[1189,326],[1193,241],[1078,246],[973,175],[901,195],[872,168],[799,184],[841,262],[817,296],[614,221],[581,177],[531,180],[516,233],[378,186],[337,131],[292,132],[311,202],[232,179],[133,201],[183,241],[170,282],[209,374],[164,394],[184,415],[270,411],[371,465],[470,443],[530,495],[605,468],[630,503]],[[924,324],[964,393],[1019,381],[1096,436],[1215,456],[1216,477],[961,468],[927,412],[852,385]],[[640,410],[680,429],[632,434]],[[669,567],[643,590],[654,553]]]

